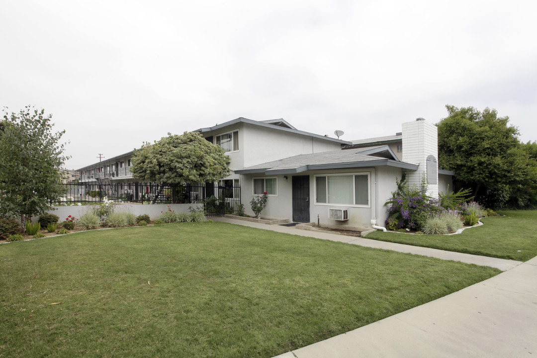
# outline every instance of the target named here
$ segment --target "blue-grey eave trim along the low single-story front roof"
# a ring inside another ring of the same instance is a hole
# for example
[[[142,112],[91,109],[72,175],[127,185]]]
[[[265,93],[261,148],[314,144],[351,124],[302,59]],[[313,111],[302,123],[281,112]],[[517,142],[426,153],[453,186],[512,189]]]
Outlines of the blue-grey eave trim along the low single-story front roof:
[[[332,164],[312,164],[312,165],[303,165],[297,168],[288,168],[288,169],[246,169],[246,170],[236,170],[237,174],[255,174],[255,173],[265,173],[265,174],[295,174],[301,173],[308,170],[330,170],[330,169],[352,169],[352,168],[363,168],[371,166],[395,166],[398,168],[417,170],[418,165],[396,162],[392,159],[378,159],[378,160],[367,160],[366,162],[349,162],[349,163],[332,163]]]

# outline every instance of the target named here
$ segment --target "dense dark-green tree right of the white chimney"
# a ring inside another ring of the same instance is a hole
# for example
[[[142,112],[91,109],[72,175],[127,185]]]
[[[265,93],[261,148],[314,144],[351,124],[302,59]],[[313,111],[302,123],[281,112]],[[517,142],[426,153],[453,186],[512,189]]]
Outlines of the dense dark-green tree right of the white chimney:
[[[456,172],[477,200],[492,207],[532,205],[536,199],[536,162],[518,140],[509,117],[495,109],[446,106],[438,124],[439,165]]]

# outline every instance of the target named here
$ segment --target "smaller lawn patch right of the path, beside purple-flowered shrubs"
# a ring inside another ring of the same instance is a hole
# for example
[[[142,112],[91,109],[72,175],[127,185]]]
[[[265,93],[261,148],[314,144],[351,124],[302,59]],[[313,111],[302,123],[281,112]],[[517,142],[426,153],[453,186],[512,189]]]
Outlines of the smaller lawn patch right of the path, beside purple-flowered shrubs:
[[[537,211],[499,211],[506,216],[485,217],[477,228],[459,235],[408,235],[376,231],[368,239],[432,247],[482,256],[526,261],[537,255]]]

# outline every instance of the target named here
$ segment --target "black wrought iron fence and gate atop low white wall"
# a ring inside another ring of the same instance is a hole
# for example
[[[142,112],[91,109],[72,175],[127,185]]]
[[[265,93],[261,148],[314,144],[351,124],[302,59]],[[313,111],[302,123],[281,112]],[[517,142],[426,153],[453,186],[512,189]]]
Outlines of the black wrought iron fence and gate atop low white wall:
[[[132,182],[123,184],[62,184],[64,194],[52,205],[93,204],[113,200],[140,204],[204,204],[207,216],[221,216],[237,211],[241,204],[240,187],[222,187]],[[108,196],[107,196],[108,193]]]

